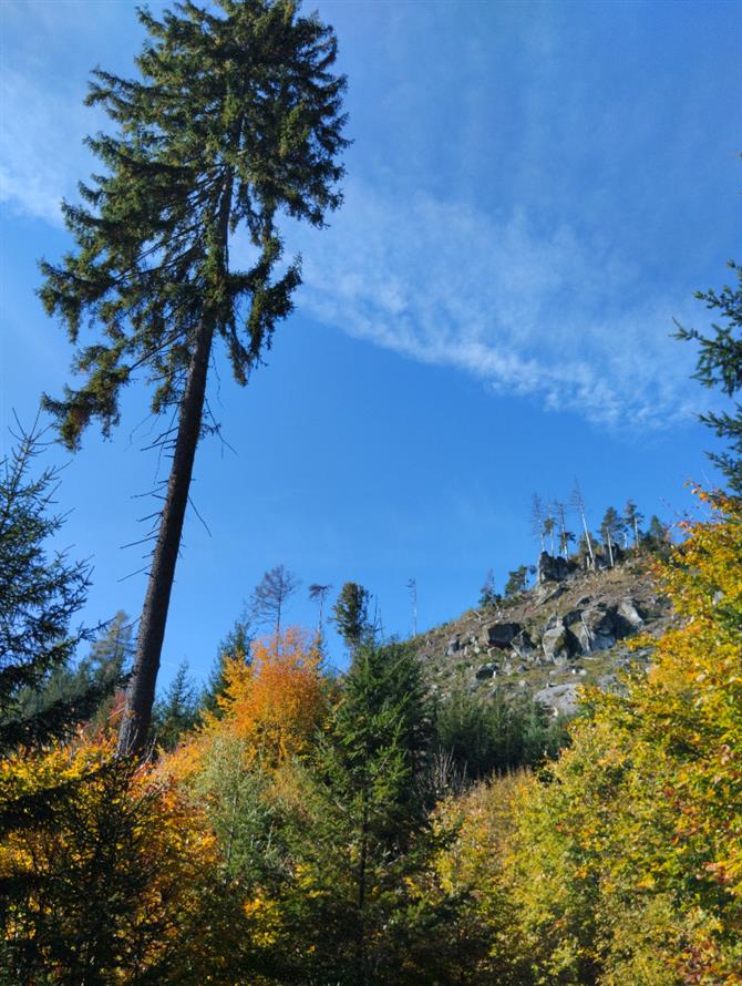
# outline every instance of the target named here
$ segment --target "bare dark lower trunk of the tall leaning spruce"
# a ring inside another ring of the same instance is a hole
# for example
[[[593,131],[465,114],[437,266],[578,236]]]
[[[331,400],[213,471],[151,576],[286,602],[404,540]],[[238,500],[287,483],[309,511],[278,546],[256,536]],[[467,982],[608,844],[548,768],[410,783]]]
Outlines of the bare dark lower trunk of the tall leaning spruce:
[[[159,518],[157,543],[152,556],[152,568],[150,569],[150,581],[136,641],[134,668],[126,691],[124,718],[118,733],[120,756],[140,753],[150,730],[152,706],[155,700],[155,684],[159,670],[159,655],[175,578],[175,563],[181,547],[193,463],[200,434],[213,338],[214,326],[210,322],[203,322],[196,336],[185,394],[181,404],[175,454],[167,481],[165,505]]]

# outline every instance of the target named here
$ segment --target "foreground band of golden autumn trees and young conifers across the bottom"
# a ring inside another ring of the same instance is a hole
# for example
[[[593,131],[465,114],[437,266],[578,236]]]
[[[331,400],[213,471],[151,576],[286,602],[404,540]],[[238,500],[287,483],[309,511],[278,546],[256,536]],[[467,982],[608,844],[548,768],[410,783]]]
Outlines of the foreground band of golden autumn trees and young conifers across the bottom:
[[[441,785],[413,656],[330,684],[297,629],[153,764],[17,751],[2,986],[742,984],[742,506],[699,496],[650,670],[536,771]]]

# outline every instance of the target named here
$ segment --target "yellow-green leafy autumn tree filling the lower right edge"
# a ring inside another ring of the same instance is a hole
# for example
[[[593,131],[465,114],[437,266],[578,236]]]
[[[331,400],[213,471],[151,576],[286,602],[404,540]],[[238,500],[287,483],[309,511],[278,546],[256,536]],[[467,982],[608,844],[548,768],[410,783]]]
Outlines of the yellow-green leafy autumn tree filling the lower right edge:
[[[742,504],[698,493],[710,515],[658,568],[680,624],[515,799],[537,983],[742,983]]]

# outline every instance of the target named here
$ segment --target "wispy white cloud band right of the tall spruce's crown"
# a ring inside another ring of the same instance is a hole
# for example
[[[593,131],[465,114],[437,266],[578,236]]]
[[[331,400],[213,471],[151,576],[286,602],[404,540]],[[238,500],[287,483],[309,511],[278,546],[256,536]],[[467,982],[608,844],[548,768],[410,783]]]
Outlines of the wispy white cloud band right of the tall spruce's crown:
[[[351,336],[611,428],[695,410],[692,353],[669,338],[678,299],[642,294],[609,245],[567,226],[351,183],[332,228],[298,239],[299,304]]]

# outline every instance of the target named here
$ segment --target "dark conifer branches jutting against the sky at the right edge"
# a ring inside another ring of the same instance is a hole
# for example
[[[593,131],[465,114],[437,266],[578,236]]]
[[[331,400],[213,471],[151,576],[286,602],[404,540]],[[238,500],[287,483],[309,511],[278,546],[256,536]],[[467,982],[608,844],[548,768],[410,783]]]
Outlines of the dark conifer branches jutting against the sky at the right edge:
[[[742,267],[733,260],[728,266],[736,277],[735,286],[695,294],[708,309],[719,314],[722,325],[712,323],[712,333],[708,336],[678,326],[677,338],[699,343],[695,380],[704,387],[718,387],[725,397],[733,398],[742,390]],[[726,476],[731,492],[742,496],[742,403],[738,400],[731,413],[711,411],[701,414],[700,420],[729,442],[730,452],[710,453],[709,458]]]

